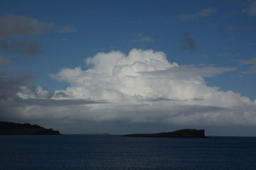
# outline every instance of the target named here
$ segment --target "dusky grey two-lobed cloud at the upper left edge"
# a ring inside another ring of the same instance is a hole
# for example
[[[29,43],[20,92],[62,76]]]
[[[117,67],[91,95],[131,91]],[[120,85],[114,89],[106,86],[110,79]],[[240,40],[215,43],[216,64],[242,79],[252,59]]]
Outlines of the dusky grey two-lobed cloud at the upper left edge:
[[[41,22],[36,18],[24,15],[1,15],[0,16],[0,52],[18,53],[26,57],[36,55],[41,51],[38,41],[14,41],[13,37],[26,37],[37,34],[45,34],[52,28],[52,23]]]

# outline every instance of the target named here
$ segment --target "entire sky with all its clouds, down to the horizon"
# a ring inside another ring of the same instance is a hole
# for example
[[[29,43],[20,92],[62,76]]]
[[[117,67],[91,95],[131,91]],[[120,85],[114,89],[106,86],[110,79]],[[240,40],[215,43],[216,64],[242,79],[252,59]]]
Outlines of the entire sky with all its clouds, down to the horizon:
[[[5,1],[0,120],[256,136],[256,1]]]

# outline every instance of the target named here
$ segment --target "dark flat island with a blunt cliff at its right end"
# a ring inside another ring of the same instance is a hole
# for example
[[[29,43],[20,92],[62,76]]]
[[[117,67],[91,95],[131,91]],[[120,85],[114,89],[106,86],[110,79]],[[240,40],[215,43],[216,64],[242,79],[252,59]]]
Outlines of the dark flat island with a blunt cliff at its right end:
[[[162,138],[205,138],[204,129],[180,129],[173,132],[162,132],[154,134],[125,134],[131,137],[162,137]]]

